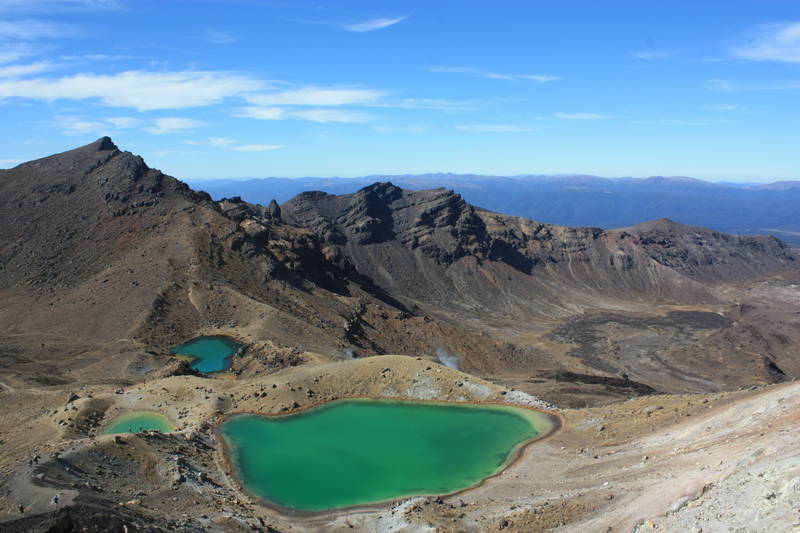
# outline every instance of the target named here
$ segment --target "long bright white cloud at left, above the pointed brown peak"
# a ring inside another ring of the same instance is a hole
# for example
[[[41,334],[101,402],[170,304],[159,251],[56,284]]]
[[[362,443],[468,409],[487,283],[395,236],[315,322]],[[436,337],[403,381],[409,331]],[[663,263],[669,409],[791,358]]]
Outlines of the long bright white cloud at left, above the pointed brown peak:
[[[0,100],[97,99],[105,105],[139,111],[183,109],[216,104],[232,96],[257,91],[261,81],[219,71],[75,74],[63,78],[0,81]]]

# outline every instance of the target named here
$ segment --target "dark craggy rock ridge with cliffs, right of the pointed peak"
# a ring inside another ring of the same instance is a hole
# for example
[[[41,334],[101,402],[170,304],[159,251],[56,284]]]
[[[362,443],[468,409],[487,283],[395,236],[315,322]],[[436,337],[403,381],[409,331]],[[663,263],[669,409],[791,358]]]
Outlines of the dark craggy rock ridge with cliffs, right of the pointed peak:
[[[576,302],[693,303],[708,285],[789,270],[774,237],[736,237],[668,220],[603,231],[478,210],[452,191],[377,183],[311,192],[282,206],[326,255],[381,287],[437,306],[558,316]]]

